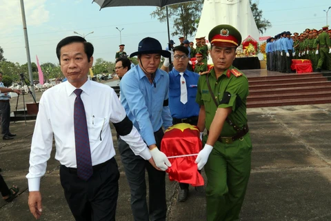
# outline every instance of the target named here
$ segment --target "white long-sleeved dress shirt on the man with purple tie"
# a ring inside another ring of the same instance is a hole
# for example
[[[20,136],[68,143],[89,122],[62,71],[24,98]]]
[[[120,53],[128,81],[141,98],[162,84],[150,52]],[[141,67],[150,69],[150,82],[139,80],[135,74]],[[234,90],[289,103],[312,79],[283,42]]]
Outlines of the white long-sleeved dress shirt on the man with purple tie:
[[[46,173],[47,161],[52,151],[53,134],[55,159],[59,160],[61,165],[77,168],[74,142],[75,89],[66,81],[46,90],[41,96],[32,136],[30,169],[26,175],[29,191],[39,191],[40,179]],[[126,111],[110,86],[88,80],[81,86],[81,90],[94,166],[114,157],[109,122],[121,122],[126,117]],[[130,145],[135,155],[140,155],[145,160],[152,157],[136,128],[133,127],[132,131],[121,136],[121,139]]]

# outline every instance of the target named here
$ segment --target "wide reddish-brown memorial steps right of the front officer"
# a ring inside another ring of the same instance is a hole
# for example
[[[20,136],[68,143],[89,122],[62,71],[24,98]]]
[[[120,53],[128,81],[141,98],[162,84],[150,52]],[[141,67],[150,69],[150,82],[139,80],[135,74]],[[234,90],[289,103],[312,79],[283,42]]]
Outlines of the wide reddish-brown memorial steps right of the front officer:
[[[248,108],[331,103],[330,72],[301,75],[268,72],[272,75],[263,77],[257,77],[252,70],[243,72],[248,72],[250,86]]]

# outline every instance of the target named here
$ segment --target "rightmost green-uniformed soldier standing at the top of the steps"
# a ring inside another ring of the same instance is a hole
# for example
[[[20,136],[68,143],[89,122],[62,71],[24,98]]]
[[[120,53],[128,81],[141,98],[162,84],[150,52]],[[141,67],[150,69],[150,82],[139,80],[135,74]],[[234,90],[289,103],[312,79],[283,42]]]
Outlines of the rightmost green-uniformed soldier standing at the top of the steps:
[[[323,32],[317,37],[316,54],[320,54],[317,64],[317,71],[321,72],[322,65],[325,64],[328,70],[331,70],[331,40],[327,33],[329,26],[322,27]]]

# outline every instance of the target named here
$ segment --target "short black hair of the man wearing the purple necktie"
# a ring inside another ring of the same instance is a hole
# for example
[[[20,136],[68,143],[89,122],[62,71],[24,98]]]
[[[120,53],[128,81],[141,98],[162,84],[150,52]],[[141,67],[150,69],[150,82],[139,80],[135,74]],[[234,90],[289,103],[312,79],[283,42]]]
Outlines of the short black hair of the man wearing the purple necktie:
[[[74,42],[81,42],[84,45],[84,52],[88,56],[88,62],[90,62],[90,59],[94,52],[94,47],[90,42],[86,41],[83,37],[80,36],[70,36],[62,39],[59,44],[57,44],[57,59],[59,59],[59,63],[61,64],[61,48],[63,46],[67,46],[68,44],[72,44]]]

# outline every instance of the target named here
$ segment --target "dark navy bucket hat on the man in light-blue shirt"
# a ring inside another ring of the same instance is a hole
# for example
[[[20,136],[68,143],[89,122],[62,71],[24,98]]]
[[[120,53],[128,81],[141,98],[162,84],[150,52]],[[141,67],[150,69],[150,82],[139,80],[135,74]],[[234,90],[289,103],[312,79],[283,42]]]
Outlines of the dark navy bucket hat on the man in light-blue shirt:
[[[162,46],[157,39],[146,37],[139,42],[138,51],[133,52],[130,57],[146,54],[161,54],[163,57],[170,57],[168,50],[162,50]]]

